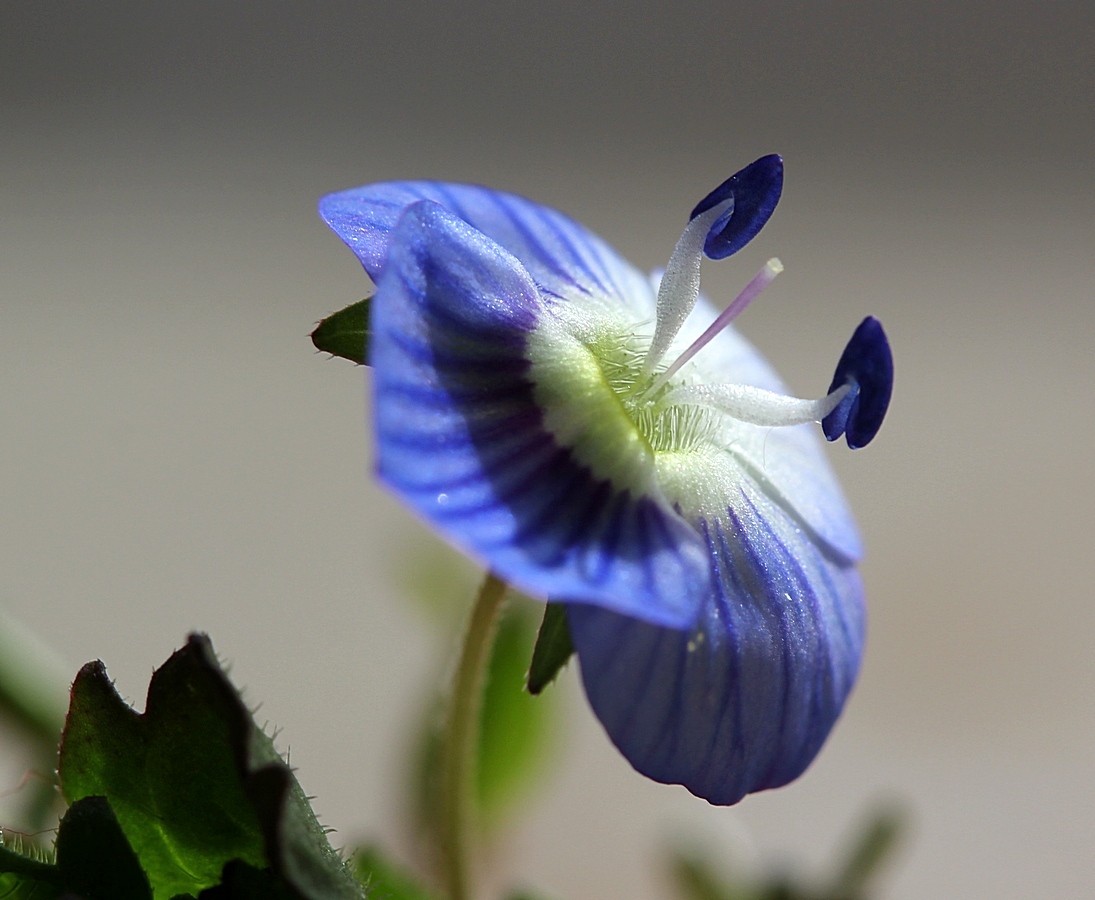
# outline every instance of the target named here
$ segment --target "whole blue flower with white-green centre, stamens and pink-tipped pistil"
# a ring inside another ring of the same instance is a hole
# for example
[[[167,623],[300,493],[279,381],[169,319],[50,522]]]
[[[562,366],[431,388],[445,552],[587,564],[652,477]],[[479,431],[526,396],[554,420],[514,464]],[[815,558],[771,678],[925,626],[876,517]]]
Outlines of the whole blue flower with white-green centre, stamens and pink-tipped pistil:
[[[862,447],[892,382],[868,318],[827,396],[785,395],[727,327],[777,259],[718,316],[700,297],[701,256],[750,241],[782,184],[775,155],[731,176],[653,278],[484,187],[374,184],[320,204],[377,284],[381,480],[500,577],[567,603],[612,741],[713,804],[797,777],[855,681],[860,538],[808,423]]]

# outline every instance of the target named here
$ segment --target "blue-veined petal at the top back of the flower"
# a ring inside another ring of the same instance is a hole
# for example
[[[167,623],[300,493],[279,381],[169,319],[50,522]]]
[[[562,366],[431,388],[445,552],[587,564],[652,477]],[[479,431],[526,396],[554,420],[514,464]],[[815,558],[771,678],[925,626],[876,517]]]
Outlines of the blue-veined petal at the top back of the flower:
[[[515,194],[472,184],[387,182],[327,195],[320,217],[379,281],[392,229],[404,209],[424,199],[502,244],[545,295],[612,310],[622,304],[632,318],[653,318],[655,298],[642,273],[562,212]]]

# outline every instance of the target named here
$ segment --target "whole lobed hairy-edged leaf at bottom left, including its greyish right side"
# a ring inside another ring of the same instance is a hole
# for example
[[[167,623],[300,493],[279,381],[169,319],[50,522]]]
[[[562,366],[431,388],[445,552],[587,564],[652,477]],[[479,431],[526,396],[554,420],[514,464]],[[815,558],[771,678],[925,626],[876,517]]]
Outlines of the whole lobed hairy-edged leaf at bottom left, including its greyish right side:
[[[152,674],[143,714],[102,662],[84,666],[59,774],[69,801],[110,800],[155,900],[217,886],[233,859],[269,867],[307,900],[362,897],[204,635]]]

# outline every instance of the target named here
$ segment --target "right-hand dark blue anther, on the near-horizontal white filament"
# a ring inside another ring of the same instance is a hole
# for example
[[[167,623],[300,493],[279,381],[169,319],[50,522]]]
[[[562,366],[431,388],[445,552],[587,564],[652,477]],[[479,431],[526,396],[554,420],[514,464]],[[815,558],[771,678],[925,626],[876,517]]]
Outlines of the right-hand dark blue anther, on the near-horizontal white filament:
[[[844,435],[848,446],[857,450],[878,434],[894,391],[894,356],[881,323],[873,315],[860,323],[844,347],[829,393],[843,384],[851,390],[821,419],[821,429],[829,440]]]

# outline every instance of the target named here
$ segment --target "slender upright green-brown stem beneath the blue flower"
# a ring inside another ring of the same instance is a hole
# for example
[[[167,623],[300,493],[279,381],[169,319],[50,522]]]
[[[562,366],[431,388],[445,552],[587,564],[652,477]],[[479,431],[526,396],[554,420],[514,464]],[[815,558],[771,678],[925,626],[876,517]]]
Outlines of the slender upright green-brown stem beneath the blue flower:
[[[452,681],[441,750],[441,856],[449,900],[469,900],[470,851],[475,834],[475,761],[483,685],[506,582],[488,573],[472,609]]]

